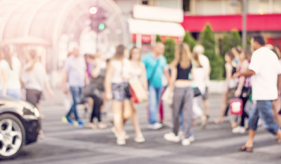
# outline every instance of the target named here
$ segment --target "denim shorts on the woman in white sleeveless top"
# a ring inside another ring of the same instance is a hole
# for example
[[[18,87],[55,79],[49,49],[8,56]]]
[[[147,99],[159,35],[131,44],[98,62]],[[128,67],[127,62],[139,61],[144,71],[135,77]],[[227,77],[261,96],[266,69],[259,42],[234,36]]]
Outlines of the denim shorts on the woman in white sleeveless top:
[[[112,96],[113,100],[124,101],[131,98],[129,83],[112,83]]]

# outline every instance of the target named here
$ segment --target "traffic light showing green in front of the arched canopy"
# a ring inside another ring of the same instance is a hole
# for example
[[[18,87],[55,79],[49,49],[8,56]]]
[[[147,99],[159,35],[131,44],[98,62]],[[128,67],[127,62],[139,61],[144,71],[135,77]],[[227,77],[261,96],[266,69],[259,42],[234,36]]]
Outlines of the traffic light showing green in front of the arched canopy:
[[[106,27],[106,11],[103,8],[92,6],[91,8],[89,8],[89,14],[91,20],[91,29],[96,32],[103,31]]]

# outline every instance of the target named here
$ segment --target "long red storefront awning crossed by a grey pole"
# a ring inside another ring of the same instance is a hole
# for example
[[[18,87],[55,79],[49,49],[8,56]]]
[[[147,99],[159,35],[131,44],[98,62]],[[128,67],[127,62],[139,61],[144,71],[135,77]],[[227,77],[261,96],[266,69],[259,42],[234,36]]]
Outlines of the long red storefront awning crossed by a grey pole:
[[[214,31],[230,31],[242,29],[241,15],[220,16],[184,16],[183,28],[185,31],[202,31],[209,23]],[[281,31],[281,14],[248,14],[247,31]]]

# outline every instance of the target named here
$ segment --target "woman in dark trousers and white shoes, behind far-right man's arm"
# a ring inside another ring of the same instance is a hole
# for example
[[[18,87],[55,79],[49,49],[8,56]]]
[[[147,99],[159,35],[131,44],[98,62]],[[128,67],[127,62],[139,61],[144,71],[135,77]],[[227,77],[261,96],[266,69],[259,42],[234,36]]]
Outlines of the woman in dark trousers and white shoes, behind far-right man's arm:
[[[245,72],[248,70],[250,60],[252,56],[252,50],[250,46],[246,46],[245,49],[242,51],[240,55],[240,61],[239,61],[239,72]],[[252,93],[252,85],[251,85],[251,79],[250,77],[239,77],[237,90],[235,91],[235,97],[241,98],[243,101],[243,113],[241,115],[241,122],[240,126],[237,126],[236,128],[232,129],[232,133],[245,133],[247,129],[247,124],[245,124],[245,118],[249,118],[247,115],[247,112],[245,111],[245,105],[247,100],[250,97],[250,94]]]

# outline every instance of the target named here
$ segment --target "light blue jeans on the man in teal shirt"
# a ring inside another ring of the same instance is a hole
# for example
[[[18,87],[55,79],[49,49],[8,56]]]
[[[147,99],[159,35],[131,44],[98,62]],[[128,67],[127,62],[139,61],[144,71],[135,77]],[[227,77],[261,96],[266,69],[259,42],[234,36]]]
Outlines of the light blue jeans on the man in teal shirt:
[[[160,105],[162,87],[148,86],[149,92],[149,124],[157,123],[157,113]]]

